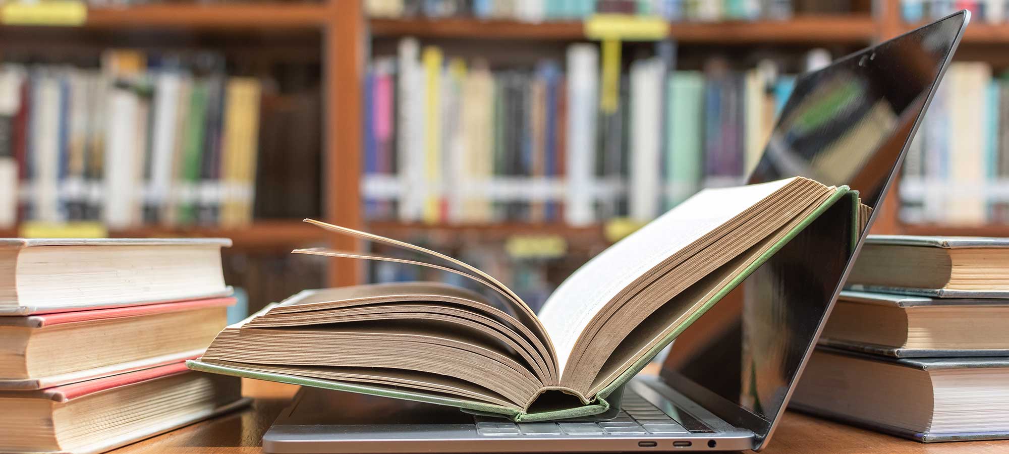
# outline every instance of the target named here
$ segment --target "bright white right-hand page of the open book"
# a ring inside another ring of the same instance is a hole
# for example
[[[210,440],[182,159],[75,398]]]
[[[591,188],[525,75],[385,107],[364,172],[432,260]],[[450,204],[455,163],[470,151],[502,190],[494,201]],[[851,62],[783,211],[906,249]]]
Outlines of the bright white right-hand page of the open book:
[[[560,370],[578,335],[623,289],[794,180],[701,191],[578,268],[539,314]]]

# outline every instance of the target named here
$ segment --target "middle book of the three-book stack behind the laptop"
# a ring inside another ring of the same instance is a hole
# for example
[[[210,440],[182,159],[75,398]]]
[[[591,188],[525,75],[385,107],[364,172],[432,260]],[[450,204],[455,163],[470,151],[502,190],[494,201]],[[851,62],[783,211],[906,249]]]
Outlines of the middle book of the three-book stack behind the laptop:
[[[1009,301],[845,291],[819,343],[894,357],[1009,356]]]

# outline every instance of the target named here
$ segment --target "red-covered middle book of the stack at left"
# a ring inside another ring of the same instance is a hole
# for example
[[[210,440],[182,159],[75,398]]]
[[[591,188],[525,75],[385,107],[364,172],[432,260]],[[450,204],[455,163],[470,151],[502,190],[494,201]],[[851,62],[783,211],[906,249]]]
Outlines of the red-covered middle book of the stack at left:
[[[40,389],[200,356],[233,298],[0,317],[0,389]]]

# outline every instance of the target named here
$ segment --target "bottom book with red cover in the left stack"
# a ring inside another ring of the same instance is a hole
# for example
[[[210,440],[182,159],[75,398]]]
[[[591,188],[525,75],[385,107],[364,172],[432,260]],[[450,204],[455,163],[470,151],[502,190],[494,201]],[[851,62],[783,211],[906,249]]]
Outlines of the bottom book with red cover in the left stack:
[[[90,454],[246,405],[241,380],[176,362],[35,391],[0,391],[0,452]]]

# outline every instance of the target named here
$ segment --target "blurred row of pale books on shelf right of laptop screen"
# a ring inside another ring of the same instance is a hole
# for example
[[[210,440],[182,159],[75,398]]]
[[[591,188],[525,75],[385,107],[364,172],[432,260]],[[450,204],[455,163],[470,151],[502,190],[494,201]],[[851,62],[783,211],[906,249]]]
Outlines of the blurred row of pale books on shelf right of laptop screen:
[[[907,223],[1009,221],[1009,78],[954,63],[908,149],[900,181]]]

